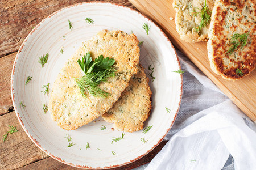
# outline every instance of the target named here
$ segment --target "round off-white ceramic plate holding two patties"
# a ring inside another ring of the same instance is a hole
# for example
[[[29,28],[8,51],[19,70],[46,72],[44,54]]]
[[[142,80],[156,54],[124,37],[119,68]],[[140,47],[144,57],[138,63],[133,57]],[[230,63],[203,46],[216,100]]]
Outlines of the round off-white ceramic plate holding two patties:
[[[94,24],[86,23],[86,17],[92,18]],[[72,22],[72,31],[68,27],[68,19]],[[150,26],[149,35],[142,29],[143,23]],[[50,83],[51,89],[61,67],[77,47],[102,29],[133,32],[139,41],[144,41],[140,60],[146,72],[151,64],[155,68],[154,82],[150,79],[152,112],[145,122],[145,126],[153,125],[151,130],[146,134],[142,130],[125,133],[122,140],[113,144],[112,138],[120,137],[121,131],[112,131],[113,125],[102,118],[73,131],[59,128],[51,120],[50,113],[44,114],[43,104],[48,104],[48,96],[41,92],[42,86],[47,83]],[[63,54],[60,53],[61,48]],[[42,68],[38,59],[47,52],[48,63]],[[182,76],[172,71],[179,69],[174,47],[151,20],[124,6],[102,2],[80,3],[48,16],[24,40],[15,58],[11,78],[13,104],[28,137],[52,158],[82,168],[119,167],[146,155],[170,130],[182,93]],[[27,76],[32,76],[32,80],[25,86]],[[20,108],[20,102],[26,105],[24,109]],[[166,107],[170,113],[167,113]],[[106,129],[101,130],[101,125]],[[71,135],[71,142],[76,145],[67,147],[66,134]],[[141,138],[148,140],[147,143],[143,143]],[[87,142],[90,145],[88,150]]]

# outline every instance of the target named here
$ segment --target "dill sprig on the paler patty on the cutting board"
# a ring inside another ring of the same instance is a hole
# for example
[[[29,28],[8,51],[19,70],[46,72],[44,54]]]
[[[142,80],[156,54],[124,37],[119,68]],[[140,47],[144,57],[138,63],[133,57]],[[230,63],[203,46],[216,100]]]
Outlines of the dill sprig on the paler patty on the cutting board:
[[[193,10],[194,16],[198,14],[201,16],[201,22],[197,28],[195,27],[195,29],[197,32],[200,32],[203,27],[207,26],[210,23],[210,15],[212,14],[212,11],[210,11],[209,8],[207,7],[206,0],[200,12],[197,12],[195,9]]]

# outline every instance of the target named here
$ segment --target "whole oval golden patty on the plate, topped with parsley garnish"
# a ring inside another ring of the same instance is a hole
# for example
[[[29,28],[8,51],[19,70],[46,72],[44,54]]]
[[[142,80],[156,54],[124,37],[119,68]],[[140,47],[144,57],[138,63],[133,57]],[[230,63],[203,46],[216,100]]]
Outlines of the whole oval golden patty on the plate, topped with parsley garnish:
[[[112,107],[128,86],[130,78],[138,71],[138,42],[133,34],[104,30],[86,41],[73,54],[57,76],[50,95],[49,111],[57,125],[65,130],[74,130],[88,124]],[[77,59],[81,59],[88,51],[93,60],[101,54],[115,59],[117,75],[109,78],[109,83],[101,82],[99,86],[112,97],[104,99],[89,93],[86,94],[87,98],[82,96],[75,82],[75,78],[83,75]]]

